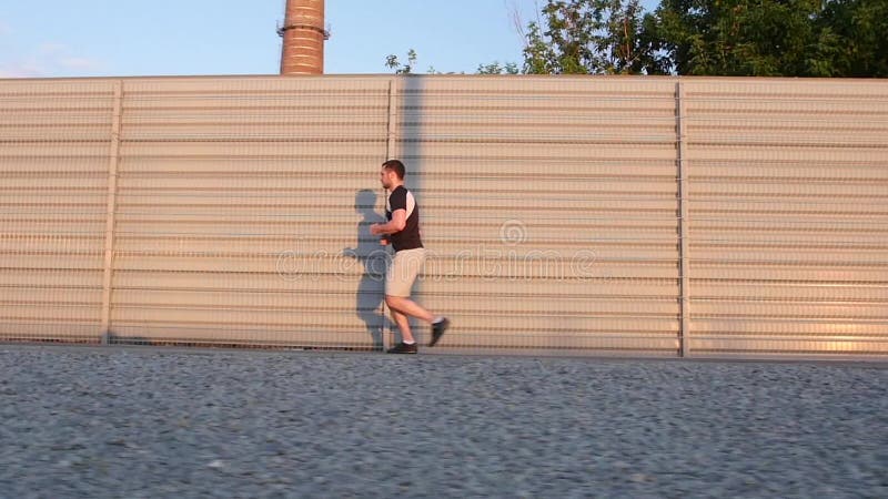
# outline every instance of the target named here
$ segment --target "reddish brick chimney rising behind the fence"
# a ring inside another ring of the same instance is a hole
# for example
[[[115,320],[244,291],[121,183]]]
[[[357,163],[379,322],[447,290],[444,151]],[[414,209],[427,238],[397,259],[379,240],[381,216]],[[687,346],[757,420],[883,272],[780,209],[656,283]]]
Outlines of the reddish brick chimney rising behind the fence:
[[[283,41],[281,74],[323,74],[324,0],[286,0],[284,24],[278,28]]]

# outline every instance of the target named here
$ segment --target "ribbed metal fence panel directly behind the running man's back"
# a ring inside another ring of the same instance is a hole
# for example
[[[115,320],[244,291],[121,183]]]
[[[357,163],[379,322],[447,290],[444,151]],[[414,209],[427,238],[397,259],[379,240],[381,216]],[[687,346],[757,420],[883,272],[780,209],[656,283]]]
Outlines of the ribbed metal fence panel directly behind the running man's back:
[[[454,347],[676,355],[669,80],[398,80],[397,156]]]

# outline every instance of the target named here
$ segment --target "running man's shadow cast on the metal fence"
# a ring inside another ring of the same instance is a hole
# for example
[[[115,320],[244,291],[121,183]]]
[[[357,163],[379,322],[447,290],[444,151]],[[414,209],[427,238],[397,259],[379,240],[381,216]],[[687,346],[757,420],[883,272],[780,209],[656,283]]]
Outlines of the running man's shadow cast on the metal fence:
[[[373,348],[381,350],[386,318],[380,310],[385,298],[385,266],[390,256],[386,247],[380,244],[380,238],[370,233],[372,224],[385,222],[385,217],[376,213],[376,193],[369,189],[355,194],[354,211],[362,216],[357,223],[357,246],[344,248],[342,255],[354,258],[363,266],[355,310],[366,325]]]

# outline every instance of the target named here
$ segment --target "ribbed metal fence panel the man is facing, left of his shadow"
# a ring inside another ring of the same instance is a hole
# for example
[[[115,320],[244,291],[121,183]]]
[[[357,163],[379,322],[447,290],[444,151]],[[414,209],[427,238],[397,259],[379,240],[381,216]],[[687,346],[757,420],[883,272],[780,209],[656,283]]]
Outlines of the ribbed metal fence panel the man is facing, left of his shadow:
[[[382,285],[343,252],[367,243],[363,214],[382,206],[361,192],[376,187],[385,159],[387,89],[383,79],[128,81],[114,334],[380,344]]]

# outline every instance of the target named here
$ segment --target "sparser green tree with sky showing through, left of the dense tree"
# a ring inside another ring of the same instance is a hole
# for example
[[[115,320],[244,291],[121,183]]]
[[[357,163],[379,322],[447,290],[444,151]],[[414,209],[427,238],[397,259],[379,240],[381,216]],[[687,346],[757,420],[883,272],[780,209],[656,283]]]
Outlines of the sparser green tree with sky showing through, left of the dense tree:
[[[664,74],[669,61],[639,0],[547,0],[524,48],[529,74]]]

